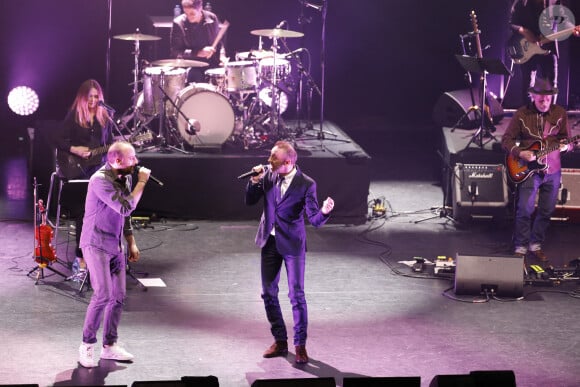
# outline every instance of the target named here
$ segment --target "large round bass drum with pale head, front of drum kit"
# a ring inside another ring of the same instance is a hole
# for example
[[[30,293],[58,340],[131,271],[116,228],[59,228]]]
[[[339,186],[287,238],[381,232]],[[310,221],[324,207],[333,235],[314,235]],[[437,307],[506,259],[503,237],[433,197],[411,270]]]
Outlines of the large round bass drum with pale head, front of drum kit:
[[[177,128],[193,147],[221,146],[234,130],[234,109],[230,101],[207,83],[192,83],[179,93],[176,105]]]

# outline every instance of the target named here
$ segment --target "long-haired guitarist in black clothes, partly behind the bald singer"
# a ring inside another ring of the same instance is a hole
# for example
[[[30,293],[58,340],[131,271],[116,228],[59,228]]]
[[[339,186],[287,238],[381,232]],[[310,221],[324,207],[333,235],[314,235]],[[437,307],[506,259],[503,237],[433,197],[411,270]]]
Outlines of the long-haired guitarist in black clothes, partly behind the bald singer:
[[[56,133],[57,173],[63,179],[89,179],[104,163],[106,152],[93,154],[91,149],[113,142],[111,116],[99,101],[103,100],[103,89],[94,79],[84,81]],[[86,192],[75,192],[63,201],[67,203],[76,226],[76,262],[73,276],[69,279],[82,282],[86,265],[79,248],[83,226]],[[77,269],[78,267],[78,269]]]

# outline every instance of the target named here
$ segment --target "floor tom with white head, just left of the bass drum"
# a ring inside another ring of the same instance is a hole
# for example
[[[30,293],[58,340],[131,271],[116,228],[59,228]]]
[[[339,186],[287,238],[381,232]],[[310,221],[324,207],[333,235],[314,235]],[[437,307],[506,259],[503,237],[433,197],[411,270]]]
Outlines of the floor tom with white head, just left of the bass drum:
[[[185,86],[187,70],[184,68],[147,67],[143,71],[143,105],[141,112],[145,115],[161,113],[163,93],[159,88],[163,77],[163,90],[175,100],[177,94]]]

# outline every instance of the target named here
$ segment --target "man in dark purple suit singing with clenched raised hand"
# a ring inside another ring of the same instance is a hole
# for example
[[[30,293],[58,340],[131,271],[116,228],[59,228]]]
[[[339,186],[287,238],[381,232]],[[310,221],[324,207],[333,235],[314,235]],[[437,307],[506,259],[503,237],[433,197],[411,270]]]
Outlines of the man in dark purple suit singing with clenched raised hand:
[[[294,317],[296,363],[303,364],[308,362],[304,213],[310,224],[320,227],[328,220],[334,201],[329,197],[322,207],[318,206],[316,182],[300,171],[296,165],[297,159],[296,150],[290,143],[278,141],[270,152],[270,165],[253,168],[256,176],[250,178],[246,187],[246,204],[253,205],[264,198],[264,212],[256,234],[256,245],[262,249],[262,299],[275,340],[264,352],[264,357],[285,356],[288,353],[286,325],[278,300],[278,282],[284,263]]]

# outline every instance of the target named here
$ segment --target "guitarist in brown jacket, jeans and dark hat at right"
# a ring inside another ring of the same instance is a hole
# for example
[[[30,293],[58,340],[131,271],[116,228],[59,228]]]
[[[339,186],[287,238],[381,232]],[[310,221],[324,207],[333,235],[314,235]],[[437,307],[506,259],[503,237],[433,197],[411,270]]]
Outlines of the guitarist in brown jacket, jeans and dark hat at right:
[[[530,169],[516,188],[513,242],[516,256],[527,255],[546,262],[548,258],[542,247],[550,216],[556,208],[561,176],[560,153],[571,150],[573,143],[567,142],[569,128],[566,110],[552,103],[558,93],[552,83],[537,78],[528,92],[531,102],[515,112],[502,137],[502,146],[508,152],[508,171],[512,170],[510,159],[524,167],[526,163],[538,166]],[[545,148],[554,151],[538,159],[538,150]],[[510,177],[517,182],[511,174]],[[532,220],[536,196],[538,205]]]

